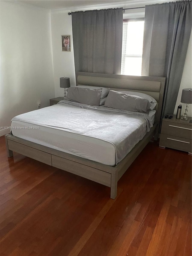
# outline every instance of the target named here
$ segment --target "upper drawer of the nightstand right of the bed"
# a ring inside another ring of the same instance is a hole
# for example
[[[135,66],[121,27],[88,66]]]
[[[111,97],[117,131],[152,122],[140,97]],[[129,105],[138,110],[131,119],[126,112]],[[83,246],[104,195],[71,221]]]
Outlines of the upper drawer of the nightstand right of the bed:
[[[174,122],[163,122],[161,134],[170,134],[172,136],[191,139],[192,129],[190,125],[184,125]]]

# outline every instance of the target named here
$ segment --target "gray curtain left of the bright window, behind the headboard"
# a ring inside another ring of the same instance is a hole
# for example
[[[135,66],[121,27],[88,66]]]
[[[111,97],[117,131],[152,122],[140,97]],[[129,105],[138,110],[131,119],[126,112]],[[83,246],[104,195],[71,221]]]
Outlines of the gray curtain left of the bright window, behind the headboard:
[[[123,10],[72,13],[75,71],[120,74]]]

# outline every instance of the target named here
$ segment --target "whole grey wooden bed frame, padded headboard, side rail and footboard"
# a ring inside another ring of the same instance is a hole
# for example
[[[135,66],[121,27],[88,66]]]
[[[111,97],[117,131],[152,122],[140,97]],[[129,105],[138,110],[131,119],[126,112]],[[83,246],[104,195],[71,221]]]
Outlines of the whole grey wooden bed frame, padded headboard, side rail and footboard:
[[[151,95],[158,102],[156,106],[157,112],[155,114],[155,124],[151,130],[146,133],[144,138],[128,153],[128,155],[113,167],[51,149],[15,137],[11,134],[5,135],[7,155],[8,157],[12,157],[13,151],[18,152],[53,167],[106,185],[111,188],[111,198],[115,199],[117,195],[118,180],[149,143],[152,137],[155,135],[155,139],[158,139],[165,78],[78,72],[76,74],[76,84],[110,87],[113,88],[113,90],[137,91]]]

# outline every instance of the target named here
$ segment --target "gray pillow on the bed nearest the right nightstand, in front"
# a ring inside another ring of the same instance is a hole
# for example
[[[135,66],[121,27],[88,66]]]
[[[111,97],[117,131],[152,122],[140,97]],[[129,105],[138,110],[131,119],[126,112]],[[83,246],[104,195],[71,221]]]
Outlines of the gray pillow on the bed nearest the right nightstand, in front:
[[[147,113],[151,103],[144,98],[110,90],[104,107]]]

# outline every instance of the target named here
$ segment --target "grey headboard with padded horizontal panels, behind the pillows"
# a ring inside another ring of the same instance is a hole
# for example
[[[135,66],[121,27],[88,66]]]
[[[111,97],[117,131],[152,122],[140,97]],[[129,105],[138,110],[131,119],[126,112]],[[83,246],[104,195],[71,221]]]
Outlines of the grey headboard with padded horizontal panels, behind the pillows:
[[[159,124],[163,103],[165,77],[126,76],[101,73],[76,73],[76,85],[102,86],[113,90],[143,92],[158,102],[155,110],[155,122]]]

